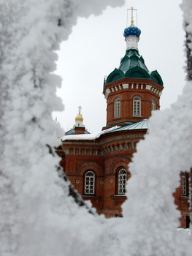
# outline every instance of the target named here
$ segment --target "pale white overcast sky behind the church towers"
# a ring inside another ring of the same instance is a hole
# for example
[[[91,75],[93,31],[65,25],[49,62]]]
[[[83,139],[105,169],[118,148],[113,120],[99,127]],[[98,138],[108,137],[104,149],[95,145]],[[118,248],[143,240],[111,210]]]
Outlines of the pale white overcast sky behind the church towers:
[[[63,99],[65,110],[53,116],[57,116],[65,131],[74,125],[80,105],[89,132],[99,132],[105,126],[104,76],[119,67],[120,58],[126,53],[123,31],[126,10],[131,6],[138,10],[138,23],[134,23],[142,31],[139,53],[147,68],[156,69],[164,81],[161,110],[177,100],[185,85],[185,34],[180,3],[181,0],[126,0],[124,7],[109,7],[103,15],[79,18],[69,39],[61,44],[58,59],[57,73],[63,78],[58,96]],[[129,13],[129,20],[130,16]]]

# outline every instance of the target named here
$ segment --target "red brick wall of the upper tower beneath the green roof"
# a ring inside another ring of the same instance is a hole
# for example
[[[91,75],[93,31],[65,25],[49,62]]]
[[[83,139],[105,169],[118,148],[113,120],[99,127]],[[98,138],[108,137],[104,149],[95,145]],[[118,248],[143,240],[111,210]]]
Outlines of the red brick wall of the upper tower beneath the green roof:
[[[122,84],[128,84],[128,89],[123,89]],[[134,86],[132,86],[132,84]],[[119,122],[139,121],[144,118],[149,118],[152,110],[152,100],[155,100],[156,109],[158,110],[160,108],[159,95],[154,91],[147,90],[146,84],[153,86],[153,88],[156,89],[155,91],[162,91],[163,89],[162,86],[159,86],[152,80],[140,79],[138,83],[138,79],[131,78],[117,80],[105,85],[105,89],[113,88],[113,91],[111,91],[107,97],[107,126]],[[121,89],[116,90],[115,88],[118,88],[118,86],[121,86]],[[140,97],[141,99],[141,117],[133,116],[134,97]],[[120,98],[120,118],[114,118],[114,102],[117,98]]]

